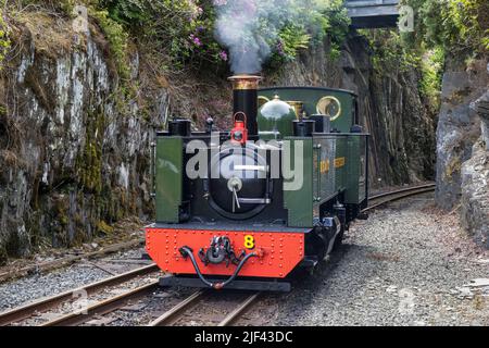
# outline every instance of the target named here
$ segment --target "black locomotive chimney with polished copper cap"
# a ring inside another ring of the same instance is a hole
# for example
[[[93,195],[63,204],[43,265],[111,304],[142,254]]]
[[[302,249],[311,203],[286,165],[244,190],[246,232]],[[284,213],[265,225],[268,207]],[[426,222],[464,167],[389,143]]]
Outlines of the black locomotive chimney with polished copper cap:
[[[259,135],[258,127],[258,86],[261,76],[236,75],[229,77],[234,90],[234,114],[243,112],[247,115],[249,139],[255,140]]]

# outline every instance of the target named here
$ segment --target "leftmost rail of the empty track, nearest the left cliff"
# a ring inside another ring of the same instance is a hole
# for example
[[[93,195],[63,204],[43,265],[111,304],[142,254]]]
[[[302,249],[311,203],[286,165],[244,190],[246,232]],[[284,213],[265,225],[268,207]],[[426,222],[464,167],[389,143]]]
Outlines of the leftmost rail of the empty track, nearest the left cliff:
[[[87,286],[82,286],[76,289],[67,290],[62,294],[42,298],[32,303],[14,308],[12,310],[0,313],[0,326],[20,322],[33,316],[34,314],[58,307],[65,301],[74,299],[74,295],[76,294],[95,294],[105,287],[120,285],[138,276],[147,275],[156,271],[159,271],[159,268],[155,264],[150,264],[97,283],[92,283]]]

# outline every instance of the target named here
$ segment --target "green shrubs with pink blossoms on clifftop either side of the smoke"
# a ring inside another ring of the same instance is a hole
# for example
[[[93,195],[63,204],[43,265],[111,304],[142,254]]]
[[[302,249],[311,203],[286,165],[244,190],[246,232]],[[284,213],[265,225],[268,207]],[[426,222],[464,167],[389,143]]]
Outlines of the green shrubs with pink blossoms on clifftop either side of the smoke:
[[[167,66],[223,67],[228,52],[214,38],[216,7],[226,0],[101,0],[97,9],[168,59]],[[330,37],[331,57],[338,57],[349,18],[341,0],[256,1],[262,15],[259,32],[279,27],[278,35],[267,41],[273,66],[292,61],[299,51]],[[271,10],[272,9],[272,10]]]

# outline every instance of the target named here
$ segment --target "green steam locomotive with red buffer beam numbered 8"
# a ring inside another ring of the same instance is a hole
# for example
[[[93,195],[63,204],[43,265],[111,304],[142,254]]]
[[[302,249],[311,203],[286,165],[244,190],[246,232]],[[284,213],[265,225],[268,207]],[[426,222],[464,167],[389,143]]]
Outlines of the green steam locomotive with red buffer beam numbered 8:
[[[156,134],[147,252],[162,286],[289,291],[366,219],[368,135],[351,91],[229,79],[231,129],[173,120]]]

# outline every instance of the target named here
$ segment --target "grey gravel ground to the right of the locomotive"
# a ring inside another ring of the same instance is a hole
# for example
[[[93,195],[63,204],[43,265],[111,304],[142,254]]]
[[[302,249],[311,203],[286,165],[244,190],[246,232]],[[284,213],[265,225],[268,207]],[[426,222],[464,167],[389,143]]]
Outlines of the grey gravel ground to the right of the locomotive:
[[[410,199],[358,222],[344,245],[296,289],[259,306],[272,325],[489,325],[489,256],[459,227],[456,213]],[[242,324],[247,324],[243,322]]]

